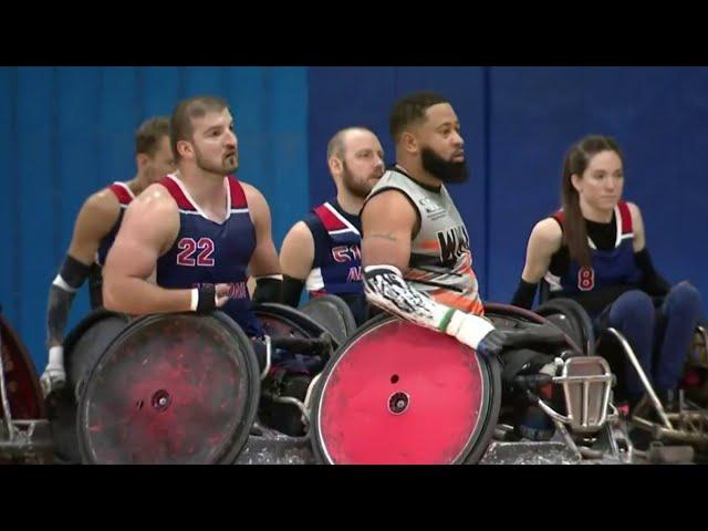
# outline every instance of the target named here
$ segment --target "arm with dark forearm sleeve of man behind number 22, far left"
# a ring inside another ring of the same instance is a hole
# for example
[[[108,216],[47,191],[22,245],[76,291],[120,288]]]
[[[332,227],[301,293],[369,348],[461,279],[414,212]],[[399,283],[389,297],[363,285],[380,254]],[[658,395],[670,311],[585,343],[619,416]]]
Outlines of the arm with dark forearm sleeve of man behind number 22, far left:
[[[110,190],[86,199],[74,223],[69,252],[52,282],[46,310],[48,347],[61,345],[74,294],[86,280],[101,240],[111,231],[121,205]]]

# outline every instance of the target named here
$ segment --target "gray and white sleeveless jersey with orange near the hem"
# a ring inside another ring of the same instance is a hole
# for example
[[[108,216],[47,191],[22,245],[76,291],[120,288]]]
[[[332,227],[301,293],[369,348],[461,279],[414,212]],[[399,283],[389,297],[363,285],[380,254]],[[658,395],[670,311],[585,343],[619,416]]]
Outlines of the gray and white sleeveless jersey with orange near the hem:
[[[440,304],[483,315],[469,235],[445,186],[435,191],[397,169],[388,169],[367,200],[392,188],[405,194],[420,217],[420,230],[410,242],[406,281]]]

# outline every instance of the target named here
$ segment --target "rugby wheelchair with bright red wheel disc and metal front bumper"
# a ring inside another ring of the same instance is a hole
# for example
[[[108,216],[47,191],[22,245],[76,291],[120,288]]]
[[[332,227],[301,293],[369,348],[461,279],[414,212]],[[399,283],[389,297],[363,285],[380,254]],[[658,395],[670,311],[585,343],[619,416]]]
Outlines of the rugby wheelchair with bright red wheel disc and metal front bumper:
[[[394,316],[379,315],[358,329],[315,386],[311,427],[317,460],[628,461],[631,446],[610,421],[617,417],[610,400],[613,375],[604,360],[579,346],[592,329],[558,309],[546,314],[572,327],[513,306],[485,308],[497,327],[516,332],[499,360]],[[529,371],[534,364],[554,371]],[[525,437],[524,415],[544,419],[543,437]]]

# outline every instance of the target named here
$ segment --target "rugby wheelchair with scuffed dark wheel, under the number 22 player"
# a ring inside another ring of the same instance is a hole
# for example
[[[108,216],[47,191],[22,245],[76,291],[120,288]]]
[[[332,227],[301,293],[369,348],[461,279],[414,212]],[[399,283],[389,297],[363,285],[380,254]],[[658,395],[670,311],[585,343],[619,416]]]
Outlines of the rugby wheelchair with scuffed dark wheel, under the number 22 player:
[[[336,298],[301,310],[253,310],[267,333],[262,348],[221,312],[129,323],[112,312],[90,315],[65,342],[64,393],[50,397],[58,457],[84,464],[312,461],[304,406],[312,378],[284,371],[278,357],[285,352],[322,366],[353,333],[354,321]]]

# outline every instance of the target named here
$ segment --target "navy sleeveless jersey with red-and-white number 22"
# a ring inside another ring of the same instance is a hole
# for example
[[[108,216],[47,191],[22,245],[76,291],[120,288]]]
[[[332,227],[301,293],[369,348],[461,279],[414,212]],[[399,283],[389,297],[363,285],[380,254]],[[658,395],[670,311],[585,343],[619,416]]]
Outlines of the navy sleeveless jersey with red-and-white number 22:
[[[179,232],[173,247],[157,260],[157,284],[189,289],[202,284],[229,284],[231,298],[221,309],[250,337],[262,334],[251,312],[246,287],[248,262],[256,249],[256,228],[249,215],[246,192],[236,177],[225,177],[227,218],[208,219],[184,184],[174,175],[162,181],[177,202]]]

